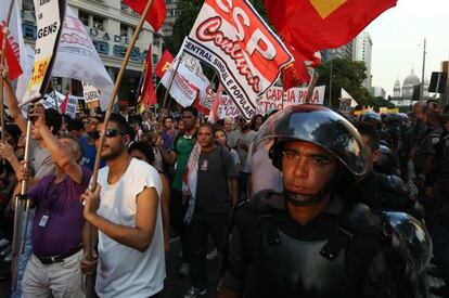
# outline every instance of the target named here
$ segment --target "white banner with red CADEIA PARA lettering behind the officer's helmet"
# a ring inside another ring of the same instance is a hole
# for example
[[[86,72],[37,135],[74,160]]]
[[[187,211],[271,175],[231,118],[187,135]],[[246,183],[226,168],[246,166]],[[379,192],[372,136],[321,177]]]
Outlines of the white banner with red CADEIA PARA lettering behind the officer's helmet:
[[[313,94],[309,104],[323,104],[325,94],[325,86],[318,86],[313,90]],[[273,109],[282,109],[283,107],[294,104],[305,104],[307,95],[306,88],[292,88],[282,92],[281,87],[271,87],[258,99],[256,115],[266,115]],[[219,119],[227,117],[242,116],[240,109],[233,103],[229,95],[221,95],[219,100],[217,115]]]

